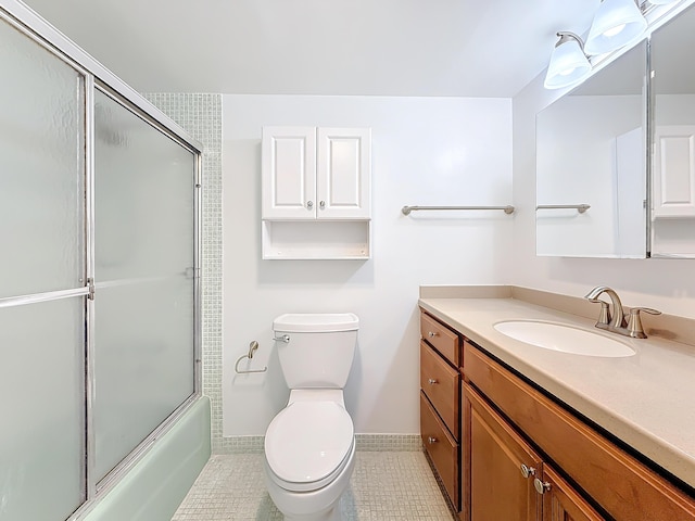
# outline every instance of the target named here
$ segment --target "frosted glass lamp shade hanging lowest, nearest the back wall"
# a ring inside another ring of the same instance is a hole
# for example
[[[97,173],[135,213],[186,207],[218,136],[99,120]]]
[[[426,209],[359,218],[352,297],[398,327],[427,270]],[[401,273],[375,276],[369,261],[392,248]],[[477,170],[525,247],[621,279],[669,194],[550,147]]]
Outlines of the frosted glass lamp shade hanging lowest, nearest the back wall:
[[[551,63],[543,85],[546,89],[561,89],[584,79],[591,64],[584,54],[582,40],[573,33],[558,33]]]

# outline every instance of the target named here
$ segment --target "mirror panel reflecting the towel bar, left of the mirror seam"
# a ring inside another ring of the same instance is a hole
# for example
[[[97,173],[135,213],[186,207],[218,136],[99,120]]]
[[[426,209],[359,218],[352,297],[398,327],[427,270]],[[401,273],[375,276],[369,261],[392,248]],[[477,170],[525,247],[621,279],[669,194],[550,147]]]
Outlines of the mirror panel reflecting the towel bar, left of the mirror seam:
[[[646,256],[646,47],[538,114],[536,255]]]

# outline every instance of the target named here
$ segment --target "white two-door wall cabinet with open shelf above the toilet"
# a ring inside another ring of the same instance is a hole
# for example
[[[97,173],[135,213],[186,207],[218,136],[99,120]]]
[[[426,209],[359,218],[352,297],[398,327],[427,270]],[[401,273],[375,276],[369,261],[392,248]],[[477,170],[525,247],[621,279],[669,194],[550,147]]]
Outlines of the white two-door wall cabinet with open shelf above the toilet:
[[[369,128],[264,127],[263,258],[369,258]]]

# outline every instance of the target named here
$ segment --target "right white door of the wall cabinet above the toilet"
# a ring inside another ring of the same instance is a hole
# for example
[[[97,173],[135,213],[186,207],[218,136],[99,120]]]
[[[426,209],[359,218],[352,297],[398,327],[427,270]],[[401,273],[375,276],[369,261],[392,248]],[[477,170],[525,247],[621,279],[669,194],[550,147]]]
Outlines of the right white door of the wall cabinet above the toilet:
[[[317,218],[370,218],[370,149],[369,128],[318,129]]]

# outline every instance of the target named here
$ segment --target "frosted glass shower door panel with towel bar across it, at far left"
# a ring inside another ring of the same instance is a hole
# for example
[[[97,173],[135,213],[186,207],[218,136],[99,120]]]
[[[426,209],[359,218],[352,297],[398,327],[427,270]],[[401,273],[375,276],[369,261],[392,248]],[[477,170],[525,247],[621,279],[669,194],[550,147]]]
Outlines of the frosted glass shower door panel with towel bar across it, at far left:
[[[0,519],[85,486],[85,76],[0,18]]]

